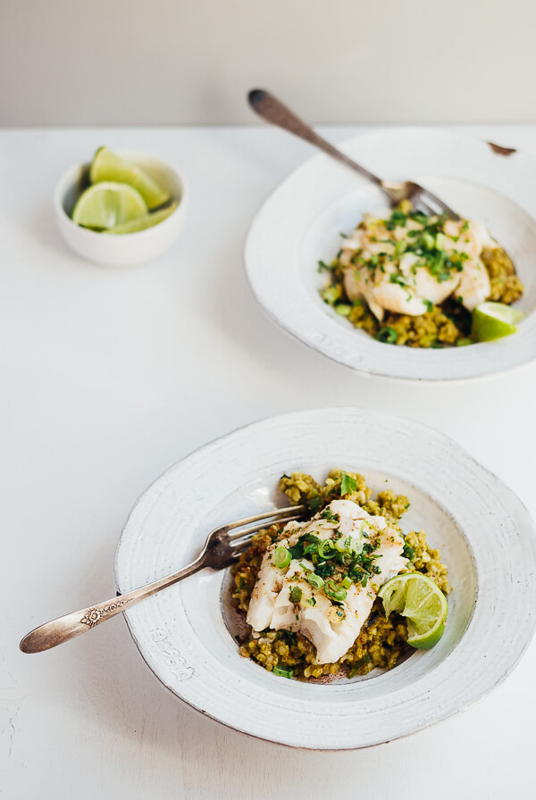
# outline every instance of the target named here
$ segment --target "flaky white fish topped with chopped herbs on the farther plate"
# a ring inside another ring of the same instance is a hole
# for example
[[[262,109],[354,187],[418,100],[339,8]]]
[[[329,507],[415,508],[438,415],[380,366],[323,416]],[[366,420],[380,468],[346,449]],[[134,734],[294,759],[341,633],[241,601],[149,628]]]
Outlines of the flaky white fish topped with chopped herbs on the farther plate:
[[[423,241],[428,242],[429,252],[418,247]],[[364,214],[362,225],[344,240],[339,262],[348,298],[363,297],[382,321],[385,312],[418,316],[450,295],[473,311],[491,293],[482,250],[497,247],[482,222],[447,220],[440,237],[431,237],[423,223],[382,210]],[[445,256],[442,262],[441,254]],[[452,266],[453,259],[456,266]]]

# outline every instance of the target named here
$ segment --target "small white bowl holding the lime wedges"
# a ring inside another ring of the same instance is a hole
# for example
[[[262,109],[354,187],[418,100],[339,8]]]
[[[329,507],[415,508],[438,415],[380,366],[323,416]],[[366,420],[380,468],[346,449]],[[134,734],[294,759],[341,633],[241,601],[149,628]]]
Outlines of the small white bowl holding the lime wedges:
[[[153,228],[121,236],[107,236],[82,228],[71,220],[72,209],[80,196],[80,187],[88,177],[90,164],[82,163],[71,167],[59,179],[54,190],[54,214],[63,240],[75,253],[97,264],[126,267],[153,261],[174,245],[184,228],[189,192],[185,180],[169,163],[136,150],[116,152],[168,189],[172,199],[179,203],[175,211]]]

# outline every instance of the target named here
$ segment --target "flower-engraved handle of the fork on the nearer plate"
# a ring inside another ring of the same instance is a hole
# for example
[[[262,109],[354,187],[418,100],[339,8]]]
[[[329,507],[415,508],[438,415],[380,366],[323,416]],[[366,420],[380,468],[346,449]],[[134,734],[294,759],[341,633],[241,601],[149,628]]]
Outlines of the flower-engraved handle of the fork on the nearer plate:
[[[184,567],[183,570],[173,572],[172,575],[166,575],[165,578],[155,580],[153,583],[147,584],[147,586],[134,589],[127,595],[118,595],[113,597],[112,600],[106,600],[105,603],[90,605],[88,608],[80,609],[80,611],[58,617],[57,620],[45,622],[44,625],[39,625],[38,628],[31,630],[21,640],[21,651],[23,653],[41,653],[51,647],[63,645],[63,642],[68,642],[70,639],[96,628],[101,622],[110,620],[116,614],[121,614],[125,609],[138,603],[139,600],[155,595],[156,592],[172,586],[183,578],[188,578],[188,575],[193,575],[194,572],[201,570],[204,565],[205,560],[202,554],[195,562]]]

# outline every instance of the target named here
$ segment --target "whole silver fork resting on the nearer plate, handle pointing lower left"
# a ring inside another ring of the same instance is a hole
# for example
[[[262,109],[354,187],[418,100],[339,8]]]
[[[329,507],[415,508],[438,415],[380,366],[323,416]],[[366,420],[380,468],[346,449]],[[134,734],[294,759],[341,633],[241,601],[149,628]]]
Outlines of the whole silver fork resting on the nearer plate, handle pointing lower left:
[[[278,508],[271,512],[255,514],[244,520],[229,522],[220,528],[215,528],[205,541],[201,553],[197,559],[188,564],[178,572],[167,575],[165,578],[155,580],[147,586],[134,589],[127,595],[118,595],[105,603],[91,605],[82,608],[80,611],[65,614],[57,620],[46,622],[38,628],[32,630],[21,640],[21,650],[23,653],[40,653],[42,650],[49,650],[51,647],[62,645],[69,639],[80,636],[82,633],[95,628],[101,622],[110,620],[116,614],[125,611],[140,600],[155,595],[161,589],[172,586],[194,572],[210,567],[212,570],[223,570],[229,567],[238,558],[239,554],[251,544],[251,539],[255,533],[272,525],[274,522],[290,522],[299,520],[306,512],[304,505],[290,505],[288,508]],[[255,524],[253,524],[255,523]],[[249,526],[245,528],[244,526]],[[236,530],[230,533],[230,530]]]

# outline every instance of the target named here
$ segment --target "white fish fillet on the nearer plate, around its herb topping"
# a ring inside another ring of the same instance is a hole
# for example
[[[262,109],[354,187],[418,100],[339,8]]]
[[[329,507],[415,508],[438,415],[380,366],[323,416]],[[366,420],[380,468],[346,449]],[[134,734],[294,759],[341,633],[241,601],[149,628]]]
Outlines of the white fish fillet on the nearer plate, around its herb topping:
[[[406,566],[402,555],[404,540],[398,531],[389,528],[384,517],[371,516],[351,500],[334,500],[327,506],[327,518],[316,514],[306,523],[289,522],[287,537],[274,543],[264,554],[253,589],[247,623],[255,631],[286,629],[306,636],[316,647],[316,663],[339,661],[351,647],[369,616],[380,587]],[[320,541],[343,537],[361,538],[373,546],[374,564],[378,571],[366,586],[352,583],[346,597],[331,602],[324,587],[315,588],[307,576],[314,571],[306,556],[292,559],[283,569],[273,564],[277,547],[295,546],[304,534],[314,534]],[[290,593],[300,590],[299,601]]]

